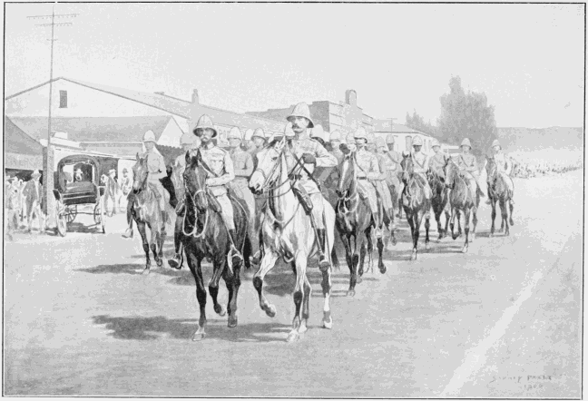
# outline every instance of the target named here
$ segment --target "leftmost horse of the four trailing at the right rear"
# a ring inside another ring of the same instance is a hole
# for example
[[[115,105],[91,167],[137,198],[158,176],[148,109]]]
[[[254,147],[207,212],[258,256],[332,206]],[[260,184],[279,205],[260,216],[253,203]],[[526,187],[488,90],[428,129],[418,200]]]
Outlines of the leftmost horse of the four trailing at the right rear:
[[[423,217],[425,217],[425,249],[428,249],[431,201],[426,199],[424,188],[426,181],[415,173],[415,166],[410,153],[403,155],[400,165],[402,166],[402,181],[405,183],[401,203],[407,214],[407,221],[413,240],[413,250],[410,259],[417,260],[418,235]]]

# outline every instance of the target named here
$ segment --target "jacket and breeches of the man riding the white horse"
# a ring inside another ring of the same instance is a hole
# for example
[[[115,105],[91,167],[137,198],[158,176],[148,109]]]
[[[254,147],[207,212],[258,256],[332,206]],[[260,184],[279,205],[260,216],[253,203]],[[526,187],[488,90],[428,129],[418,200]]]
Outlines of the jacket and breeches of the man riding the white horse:
[[[313,141],[309,138],[308,133],[302,134],[298,139],[292,139],[289,142],[291,153],[296,154],[300,159],[304,153],[312,154],[317,162],[316,164],[304,164],[306,170],[312,173],[315,167],[335,167],[337,166],[337,158],[327,152],[327,150],[317,141]],[[286,161],[288,163],[289,170],[294,167],[297,161],[294,159],[290,152],[286,152]],[[324,230],[325,225],[323,224],[323,196],[319,191],[317,184],[312,181],[306,171],[297,168],[296,174],[299,175],[298,185],[302,187],[306,193],[309,194],[310,200],[312,201],[312,216],[315,220],[315,224],[318,230]]]

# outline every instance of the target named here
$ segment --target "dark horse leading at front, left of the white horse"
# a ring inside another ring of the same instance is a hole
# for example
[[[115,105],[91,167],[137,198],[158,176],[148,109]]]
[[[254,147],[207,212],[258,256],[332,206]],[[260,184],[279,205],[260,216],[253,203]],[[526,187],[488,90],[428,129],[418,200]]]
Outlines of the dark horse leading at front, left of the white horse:
[[[192,337],[193,341],[200,341],[206,335],[206,287],[202,277],[201,261],[204,258],[212,259],[212,278],[209,282],[214,311],[224,316],[226,311],[219,304],[220,277],[224,279],[229,291],[227,311],[229,312],[229,327],[237,326],[237,295],[240,288],[241,259],[230,258],[230,234],[226,229],[219,211],[218,203],[207,191],[206,179],[213,175],[210,169],[201,160],[200,152],[186,153],[186,170],[183,179],[186,190],[186,206],[181,230],[181,242],[186,254],[186,260],[190,271],[196,280],[196,298],[200,305],[200,320],[198,329]],[[249,257],[251,244],[248,236],[249,216],[247,207],[230,197],[234,210],[235,230],[237,242],[235,247],[243,253],[245,268],[250,268]]]

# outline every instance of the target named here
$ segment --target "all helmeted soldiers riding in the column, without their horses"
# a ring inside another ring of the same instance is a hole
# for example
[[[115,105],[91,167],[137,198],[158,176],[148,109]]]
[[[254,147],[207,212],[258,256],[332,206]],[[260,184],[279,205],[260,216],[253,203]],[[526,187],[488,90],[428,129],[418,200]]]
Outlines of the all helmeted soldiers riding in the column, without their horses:
[[[219,146],[219,132],[211,120],[204,114],[201,116],[192,132],[181,136],[181,147],[184,152],[200,152],[201,160],[211,169],[214,177],[206,181],[209,194],[220,204],[220,214],[226,229],[230,233],[232,242],[236,242],[235,224],[233,221],[233,207],[229,197],[239,197],[245,201],[250,215],[250,239],[254,245],[254,255],[251,258],[253,264],[259,264],[261,259],[259,232],[261,210],[265,207],[266,199],[257,196],[250,191],[249,179],[253,171],[256,171],[257,154],[270,142],[281,139],[281,135],[289,143],[290,150],[287,158],[290,158],[289,166],[297,162],[301,164],[301,170],[293,179],[293,189],[302,196],[301,202],[310,202],[308,214],[311,217],[312,229],[315,232],[317,246],[319,248],[319,267],[326,268],[329,265],[325,257],[325,227],[322,217],[324,197],[334,208],[338,200],[337,187],[340,167],[346,155],[354,152],[357,163],[357,179],[359,196],[368,202],[376,229],[376,238],[381,238],[381,227],[386,227],[391,233],[397,230],[396,220],[402,215],[399,200],[404,188],[402,179],[403,158],[412,159],[414,176],[424,189],[426,198],[433,194],[429,186],[429,174],[444,176],[444,167],[448,155],[442,152],[440,143],[434,139],[431,148],[434,152],[429,156],[423,149],[423,140],[417,136],[412,141],[412,150],[400,154],[395,151],[395,137],[388,134],[386,138],[375,137],[365,128],[359,127],[355,132],[345,136],[342,132],[334,131],[327,135],[322,126],[315,125],[306,103],[297,104],[287,117],[287,125],[283,134],[267,133],[261,128],[240,132],[237,127],[232,127],[227,135],[228,146]],[[309,130],[310,129],[310,130]],[[310,131],[310,133],[309,133]],[[299,132],[299,133],[297,133]],[[145,133],[143,137],[144,153],[147,157],[149,169],[149,182],[159,192],[160,210],[164,208],[164,188],[160,180],[166,176],[165,163],[162,154],[155,147],[155,136],[152,131]],[[498,173],[504,177],[507,186],[513,191],[513,181],[510,178],[512,162],[502,152],[498,141],[492,144],[494,159]],[[465,179],[471,193],[485,196],[485,185],[480,182],[477,161],[471,153],[472,145],[466,138],[461,142],[461,152],[455,158],[460,175]],[[186,169],[186,157],[182,153],[172,163],[173,175],[179,177],[174,182],[178,204],[176,213],[181,216],[184,212],[185,190],[181,176]],[[122,235],[124,238],[132,238],[132,196],[129,194],[127,209],[128,229]],[[486,201],[489,204],[489,201]],[[378,205],[381,205],[378,207]],[[448,207],[448,204],[447,204]],[[306,209],[305,209],[306,210]],[[162,211],[162,213],[164,213]],[[429,211],[426,211],[427,216]],[[176,220],[174,230],[175,254],[169,260],[174,269],[181,269],[181,219]],[[240,251],[234,246],[231,248],[234,257],[240,258]]]

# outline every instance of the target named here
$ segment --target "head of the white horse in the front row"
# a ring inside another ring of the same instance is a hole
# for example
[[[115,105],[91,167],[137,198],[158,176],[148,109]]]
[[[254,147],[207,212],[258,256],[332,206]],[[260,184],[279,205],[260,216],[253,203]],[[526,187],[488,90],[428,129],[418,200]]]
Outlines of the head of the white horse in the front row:
[[[279,158],[284,152],[286,144],[285,137],[281,140],[270,142],[267,146],[257,153],[257,169],[251,174],[249,181],[250,190],[255,194],[260,194],[265,188],[272,186],[279,177]]]

